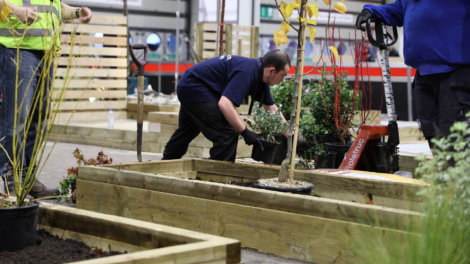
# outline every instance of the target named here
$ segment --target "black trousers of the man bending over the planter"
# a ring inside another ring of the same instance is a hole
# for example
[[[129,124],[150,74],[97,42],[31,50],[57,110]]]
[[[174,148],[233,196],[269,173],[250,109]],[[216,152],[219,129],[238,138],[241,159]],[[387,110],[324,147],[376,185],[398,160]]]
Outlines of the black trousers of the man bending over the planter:
[[[210,159],[235,161],[239,133],[220,111],[219,101],[181,103],[178,128],[163,151],[163,160],[180,159],[199,133],[214,143]]]

